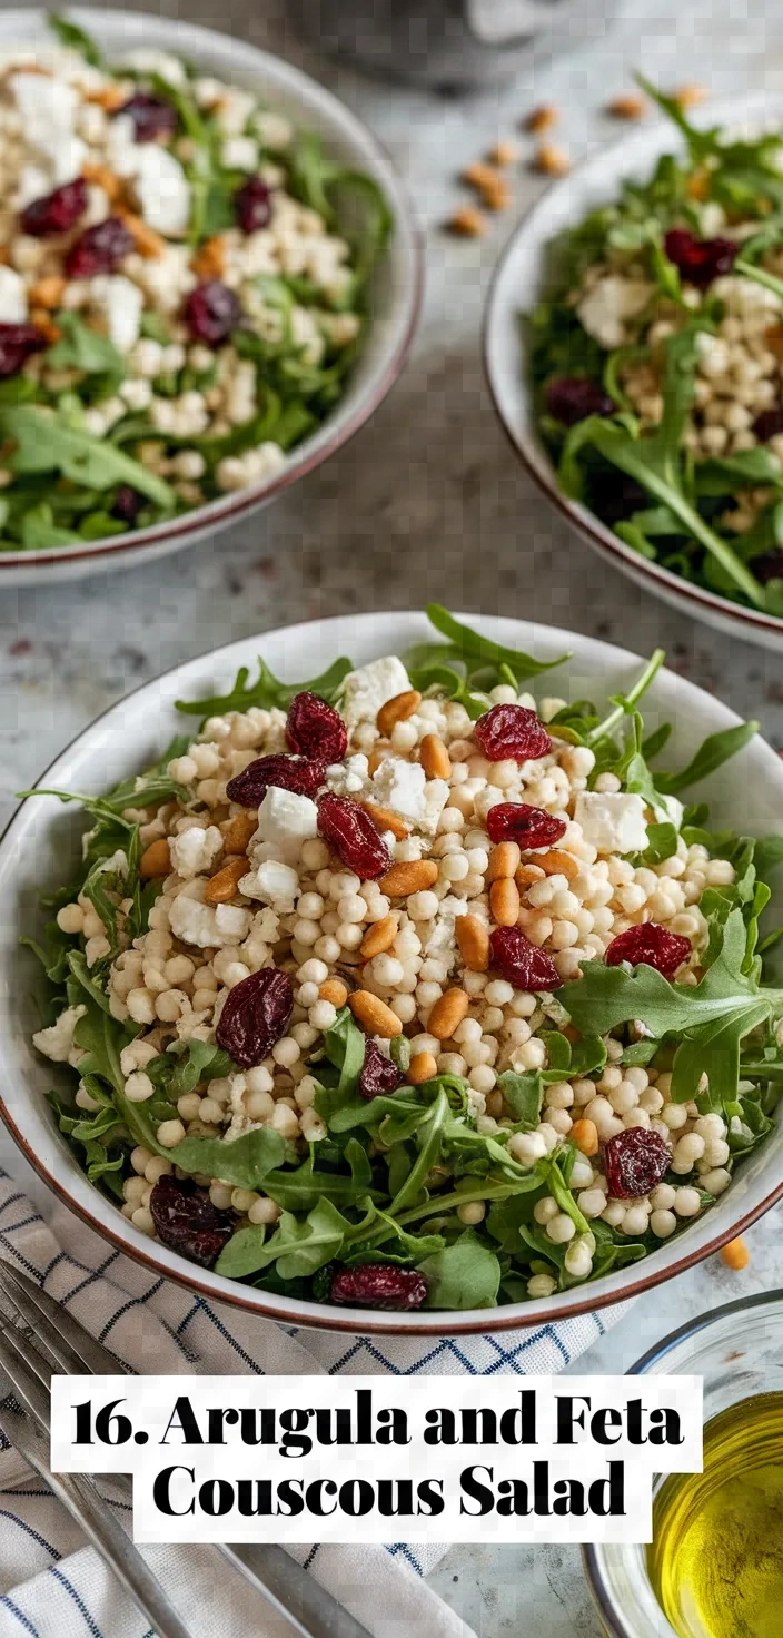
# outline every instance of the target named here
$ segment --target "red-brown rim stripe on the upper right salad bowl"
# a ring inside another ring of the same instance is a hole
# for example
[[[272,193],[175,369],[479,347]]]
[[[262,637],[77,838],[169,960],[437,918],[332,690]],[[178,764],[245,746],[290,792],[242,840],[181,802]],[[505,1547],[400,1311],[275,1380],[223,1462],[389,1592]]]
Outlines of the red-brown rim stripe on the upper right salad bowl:
[[[586,169],[586,165],[590,165],[593,161],[595,154],[588,154],[586,159],[583,159],[582,164],[570,172],[570,177],[573,179],[573,175],[578,175],[578,172],[582,169]],[[557,511],[567,519],[567,523],[570,523],[572,527],[575,527],[583,537],[590,539],[603,555],[613,557],[618,563],[631,567],[636,575],[642,577],[649,575],[649,578],[654,583],[657,581],[667,588],[670,586],[672,591],[677,591],[680,596],[691,598],[693,603],[698,603],[704,609],[714,609],[714,613],[717,614],[737,619],[740,626],[749,624],[749,626],[757,626],[760,631],[778,632],[783,645],[781,618],[775,614],[762,614],[758,609],[745,608],[742,603],[732,603],[729,598],[721,598],[716,591],[706,591],[703,586],[691,585],[691,581],[683,580],[680,575],[672,573],[670,568],[662,568],[660,563],[650,563],[645,557],[640,557],[640,554],[634,552],[632,547],[624,545],[622,541],[619,541],[619,537],[611,529],[606,529],[593,513],[590,513],[586,508],[577,508],[577,505],[572,503],[559,488],[554,472],[545,470],[544,462],[549,462],[549,457],[544,454],[544,450],[539,452],[532,437],[521,437],[518,432],[514,432],[513,428],[509,426],[509,421],[506,419],[505,411],[500,406],[498,395],[495,391],[495,377],[490,367],[490,318],[493,313],[495,292],[500,283],[503,269],[506,262],[511,259],[519,234],[523,233],[531,216],[537,211],[542,200],[549,198],[549,195],[557,187],[562,187],[562,179],[550,182],[549,187],[542,190],[539,198],[534,200],[531,208],[524,213],[524,216],[514,228],[514,233],[511,234],[498,260],[498,265],[491,275],[490,292],[483,310],[482,359],[483,359],[483,373],[487,378],[487,385],[490,388],[490,398],[495,408],[495,414],[498,416],[498,421],[511,447],[521,457],[523,465],[526,467],[527,473],[531,475],[541,493],[545,495],[547,500],[557,508]],[[526,362],[524,349],[521,349],[519,362],[521,369],[524,370],[524,362]],[[737,632],[737,636],[742,636],[742,632]]]

